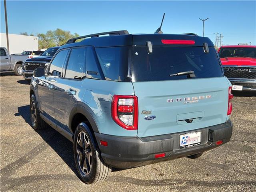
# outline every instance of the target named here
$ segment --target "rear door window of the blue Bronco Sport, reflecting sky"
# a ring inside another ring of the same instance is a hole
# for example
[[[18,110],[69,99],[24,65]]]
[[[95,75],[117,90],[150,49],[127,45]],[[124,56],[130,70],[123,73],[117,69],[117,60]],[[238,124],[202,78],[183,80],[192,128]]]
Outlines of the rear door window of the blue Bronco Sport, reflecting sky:
[[[66,78],[84,78],[85,48],[72,49],[66,68]]]

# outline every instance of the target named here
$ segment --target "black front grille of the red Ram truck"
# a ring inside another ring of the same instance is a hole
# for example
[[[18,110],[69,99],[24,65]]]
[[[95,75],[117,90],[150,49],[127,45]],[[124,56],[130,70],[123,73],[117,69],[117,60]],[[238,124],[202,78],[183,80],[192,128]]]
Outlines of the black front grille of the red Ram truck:
[[[256,79],[256,67],[229,67],[224,66],[224,74],[227,78]]]

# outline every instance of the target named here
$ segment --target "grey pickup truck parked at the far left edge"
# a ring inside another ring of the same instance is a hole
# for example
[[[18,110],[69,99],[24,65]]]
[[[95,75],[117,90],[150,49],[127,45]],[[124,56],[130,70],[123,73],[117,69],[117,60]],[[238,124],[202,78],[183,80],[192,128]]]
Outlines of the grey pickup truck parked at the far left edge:
[[[0,48],[0,72],[14,72],[16,75],[22,75],[22,62],[28,58],[28,55],[10,55],[5,47]]]

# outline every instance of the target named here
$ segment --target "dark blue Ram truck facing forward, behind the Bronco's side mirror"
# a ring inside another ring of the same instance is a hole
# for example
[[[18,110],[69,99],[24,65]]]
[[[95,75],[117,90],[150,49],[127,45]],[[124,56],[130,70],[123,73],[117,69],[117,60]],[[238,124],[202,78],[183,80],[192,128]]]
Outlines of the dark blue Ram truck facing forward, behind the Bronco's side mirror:
[[[23,77],[30,82],[33,71],[38,67],[46,68],[59,47],[48,48],[41,56],[23,62]]]

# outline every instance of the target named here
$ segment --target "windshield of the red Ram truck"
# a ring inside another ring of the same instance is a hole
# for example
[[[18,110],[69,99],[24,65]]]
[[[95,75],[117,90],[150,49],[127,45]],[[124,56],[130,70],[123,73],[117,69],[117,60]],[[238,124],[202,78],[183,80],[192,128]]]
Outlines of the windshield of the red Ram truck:
[[[256,58],[256,48],[237,47],[220,48],[220,58],[224,57],[250,57]]]

